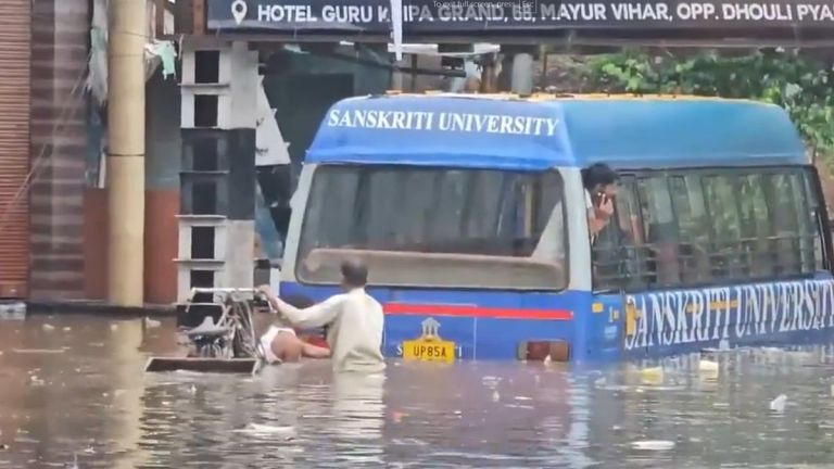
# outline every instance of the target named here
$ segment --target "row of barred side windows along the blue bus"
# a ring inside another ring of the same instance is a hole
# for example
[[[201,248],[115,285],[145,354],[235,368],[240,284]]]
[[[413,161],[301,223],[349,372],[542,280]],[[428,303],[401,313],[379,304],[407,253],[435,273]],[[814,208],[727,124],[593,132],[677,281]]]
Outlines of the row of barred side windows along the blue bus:
[[[629,280],[640,272],[642,283],[629,281],[631,288],[813,274],[824,268],[824,255],[822,205],[812,177],[799,168],[667,170],[623,177],[615,218],[621,229],[606,227],[594,244],[595,286],[611,284],[602,278],[602,272],[612,275],[605,269],[606,262],[618,265],[620,277]],[[642,224],[630,228],[630,219]],[[612,242],[612,232],[623,236]],[[639,253],[639,267],[623,270],[623,265],[634,265],[629,264],[630,248]],[[606,255],[606,250],[616,257]]]

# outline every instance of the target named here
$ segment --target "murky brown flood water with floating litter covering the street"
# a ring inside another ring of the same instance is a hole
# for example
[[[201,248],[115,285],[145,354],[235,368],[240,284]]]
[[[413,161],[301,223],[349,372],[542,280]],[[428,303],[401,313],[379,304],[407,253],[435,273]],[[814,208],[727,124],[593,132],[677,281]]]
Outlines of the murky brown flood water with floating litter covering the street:
[[[391,362],[144,375],[174,321],[0,322],[0,467],[834,467],[834,347],[604,369]],[[642,371],[641,371],[642,370]],[[770,404],[780,394],[784,409]]]

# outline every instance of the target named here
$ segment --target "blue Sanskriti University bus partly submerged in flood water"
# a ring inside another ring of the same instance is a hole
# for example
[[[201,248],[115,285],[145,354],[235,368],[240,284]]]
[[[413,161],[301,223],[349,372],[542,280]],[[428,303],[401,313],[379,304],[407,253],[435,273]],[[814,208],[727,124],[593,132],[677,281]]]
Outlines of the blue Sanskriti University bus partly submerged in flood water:
[[[581,169],[619,176],[592,241]],[[281,293],[359,257],[412,359],[652,357],[822,341],[820,182],[785,112],[691,97],[389,94],[340,101],[292,202]]]

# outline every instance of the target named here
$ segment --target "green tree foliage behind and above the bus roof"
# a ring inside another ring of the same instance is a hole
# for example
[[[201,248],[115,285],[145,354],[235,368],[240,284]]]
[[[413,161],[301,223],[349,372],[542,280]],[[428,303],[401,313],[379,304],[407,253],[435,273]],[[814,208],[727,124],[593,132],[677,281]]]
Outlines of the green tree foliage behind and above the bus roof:
[[[808,147],[834,153],[834,69],[798,53],[760,51],[652,55],[624,51],[590,56],[568,75],[586,91],[675,93],[745,98],[778,104],[791,114]]]

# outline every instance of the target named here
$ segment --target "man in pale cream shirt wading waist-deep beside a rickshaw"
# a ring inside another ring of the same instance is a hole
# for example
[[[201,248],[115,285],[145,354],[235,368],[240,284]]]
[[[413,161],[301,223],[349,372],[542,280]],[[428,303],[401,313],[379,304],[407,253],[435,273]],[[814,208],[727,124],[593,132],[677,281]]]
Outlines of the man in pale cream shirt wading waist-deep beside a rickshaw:
[[[368,269],[358,261],[341,265],[343,293],[296,308],[275,296],[269,286],[258,287],[278,315],[300,329],[327,327],[327,343],[334,371],[381,371],[382,305],[365,292]]]

